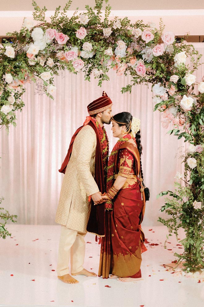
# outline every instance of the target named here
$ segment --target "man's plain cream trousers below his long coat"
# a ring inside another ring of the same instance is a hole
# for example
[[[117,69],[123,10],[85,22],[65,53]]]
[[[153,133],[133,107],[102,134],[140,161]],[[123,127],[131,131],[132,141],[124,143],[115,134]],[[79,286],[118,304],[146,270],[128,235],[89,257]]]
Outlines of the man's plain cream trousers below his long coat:
[[[78,273],[83,270],[85,256],[85,237],[86,233],[69,229],[62,225],[59,253],[57,263],[57,276],[63,276],[70,273]]]

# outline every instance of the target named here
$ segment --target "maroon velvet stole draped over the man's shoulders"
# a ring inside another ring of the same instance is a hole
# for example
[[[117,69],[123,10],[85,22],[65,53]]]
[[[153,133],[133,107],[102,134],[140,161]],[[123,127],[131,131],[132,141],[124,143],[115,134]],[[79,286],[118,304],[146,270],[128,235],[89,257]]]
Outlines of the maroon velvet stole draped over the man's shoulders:
[[[88,125],[93,128],[96,133],[96,157],[95,157],[95,173],[94,173],[94,180],[98,185],[99,191],[103,194],[104,193],[104,170],[103,170],[103,158],[102,158],[102,150],[100,144],[100,135],[96,123],[93,119],[90,119]],[[75,137],[79,133],[79,131],[84,126],[79,127],[74,135],[71,138],[70,146],[66,155],[64,162],[62,163],[62,167],[59,170],[61,173],[65,173],[66,166],[70,160],[73,143]],[[87,231],[92,234],[97,234],[99,236],[104,236],[105,234],[105,205],[104,202],[100,205],[94,205],[93,200],[91,199],[91,212],[87,224]]]

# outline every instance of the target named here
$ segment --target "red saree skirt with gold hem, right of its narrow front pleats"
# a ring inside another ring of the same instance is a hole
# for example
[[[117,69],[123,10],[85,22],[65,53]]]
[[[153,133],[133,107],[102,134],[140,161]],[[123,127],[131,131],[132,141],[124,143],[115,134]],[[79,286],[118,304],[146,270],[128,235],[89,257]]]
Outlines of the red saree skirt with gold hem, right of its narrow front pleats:
[[[111,212],[112,274],[141,277],[140,214],[143,207],[139,184],[121,189]],[[143,242],[142,242],[143,243]]]

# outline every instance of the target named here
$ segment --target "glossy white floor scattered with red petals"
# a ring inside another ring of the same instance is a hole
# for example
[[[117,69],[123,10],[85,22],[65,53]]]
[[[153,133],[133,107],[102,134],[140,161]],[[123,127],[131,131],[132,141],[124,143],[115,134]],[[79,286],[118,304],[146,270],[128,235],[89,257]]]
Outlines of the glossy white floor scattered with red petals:
[[[149,243],[142,254],[142,280],[121,283],[77,276],[79,283],[74,285],[62,283],[56,276],[60,226],[7,228],[12,238],[0,239],[0,306],[204,306],[203,275],[182,276],[163,266],[175,260],[175,251],[182,252],[172,237],[164,249],[165,227],[143,229]],[[100,246],[91,234],[86,242],[84,267],[98,273]]]

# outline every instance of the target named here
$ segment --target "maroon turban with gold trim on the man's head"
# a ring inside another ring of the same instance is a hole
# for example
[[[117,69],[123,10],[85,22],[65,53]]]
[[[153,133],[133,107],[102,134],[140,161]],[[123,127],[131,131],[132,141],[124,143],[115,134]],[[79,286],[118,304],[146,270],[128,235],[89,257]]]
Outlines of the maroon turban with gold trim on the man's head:
[[[108,95],[105,91],[103,91],[103,94],[98,99],[92,101],[88,106],[88,113],[89,115],[97,114],[100,112],[103,112],[107,110],[108,108],[111,108],[113,105],[113,102],[110,100]]]

